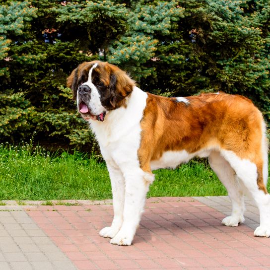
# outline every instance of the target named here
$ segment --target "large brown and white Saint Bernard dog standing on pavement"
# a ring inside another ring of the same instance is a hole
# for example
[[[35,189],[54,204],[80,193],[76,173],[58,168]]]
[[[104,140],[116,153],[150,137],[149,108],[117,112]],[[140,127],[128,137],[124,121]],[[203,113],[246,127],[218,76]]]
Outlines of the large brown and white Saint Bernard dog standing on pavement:
[[[231,199],[232,213],[222,224],[244,221],[244,194],[249,193],[260,211],[254,235],[270,237],[266,124],[249,99],[225,93],[153,95],[120,68],[99,61],[79,65],[67,85],[110,174],[114,218],[101,236],[131,245],[154,181],[152,170],[176,168],[199,156],[208,157]]]

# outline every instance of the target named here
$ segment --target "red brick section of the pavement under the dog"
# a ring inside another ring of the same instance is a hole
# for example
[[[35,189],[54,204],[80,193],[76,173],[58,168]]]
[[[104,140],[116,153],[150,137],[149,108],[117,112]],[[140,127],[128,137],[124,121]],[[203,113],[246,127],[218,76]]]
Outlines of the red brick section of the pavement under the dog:
[[[225,215],[194,198],[148,199],[130,247],[98,235],[113,219],[111,204],[25,209],[79,270],[270,267],[270,239],[246,225],[222,226]]]

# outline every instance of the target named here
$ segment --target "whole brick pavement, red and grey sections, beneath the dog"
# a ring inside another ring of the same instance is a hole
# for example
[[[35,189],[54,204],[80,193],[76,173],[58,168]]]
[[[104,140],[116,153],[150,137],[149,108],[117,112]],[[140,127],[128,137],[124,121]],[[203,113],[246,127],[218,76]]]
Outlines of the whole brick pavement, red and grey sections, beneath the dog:
[[[150,198],[130,247],[98,235],[111,201],[79,204],[0,206],[0,270],[270,269],[270,239],[253,236],[251,202],[246,225],[226,227],[228,197]]]

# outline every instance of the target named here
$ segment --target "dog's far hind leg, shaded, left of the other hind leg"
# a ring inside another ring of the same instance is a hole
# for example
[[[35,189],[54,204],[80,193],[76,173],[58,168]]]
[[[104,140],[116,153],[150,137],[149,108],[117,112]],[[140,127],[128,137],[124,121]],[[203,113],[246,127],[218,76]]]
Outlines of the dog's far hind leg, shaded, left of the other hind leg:
[[[243,191],[240,190],[240,183],[231,165],[217,151],[212,151],[208,158],[210,167],[216,173],[221,183],[228,191],[232,203],[232,213],[222,220],[226,226],[238,226],[244,222],[245,202]]]

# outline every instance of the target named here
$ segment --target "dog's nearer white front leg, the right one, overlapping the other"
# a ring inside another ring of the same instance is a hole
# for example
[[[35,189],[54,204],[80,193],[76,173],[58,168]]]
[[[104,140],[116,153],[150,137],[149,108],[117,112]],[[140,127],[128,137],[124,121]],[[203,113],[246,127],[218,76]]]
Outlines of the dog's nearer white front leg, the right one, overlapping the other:
[[[111,240],[111,244],[120,246],[132,244],[143,211],[146,193],[149,189],[149,182],[144,176],[145,173],[136,168],[124,172],[126,184],[124,221],[120,231]]]

